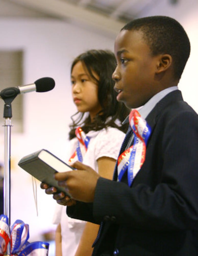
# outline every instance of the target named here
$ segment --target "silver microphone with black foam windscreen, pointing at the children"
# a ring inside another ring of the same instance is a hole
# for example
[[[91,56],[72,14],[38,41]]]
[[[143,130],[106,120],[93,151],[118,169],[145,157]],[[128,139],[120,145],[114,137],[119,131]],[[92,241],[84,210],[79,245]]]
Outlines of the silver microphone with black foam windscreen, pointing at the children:
[[[38,80],[36,80],[34,83],[27,84],[24,86],[18,86],[18,87],[9,87],[6,89],[3,89],[0,92],[0,98],[6,99],[10,97],[16,97],[18,94],[21,93],[27,93],[27,92],[47,92],[54,88],[55,81],[51,77],[43,77]]]

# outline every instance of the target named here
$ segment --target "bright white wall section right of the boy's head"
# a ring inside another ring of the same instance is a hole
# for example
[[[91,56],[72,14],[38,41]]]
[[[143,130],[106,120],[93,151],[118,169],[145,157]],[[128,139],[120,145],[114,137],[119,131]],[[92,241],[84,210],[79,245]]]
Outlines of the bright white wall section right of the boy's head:
[[[179,0],[176,5],[167,5],[168,0],[155,1],[153,8],[142,13],[143,16],[166,15],[178,20],[186,30],[191,42],[191,54],[179,82],[179,89],[183,98],[196,112],[198,112],[198,82],[197,82],[197,58],[198,58],[198,1]],[[178,42],[179,44],[179,42]]]

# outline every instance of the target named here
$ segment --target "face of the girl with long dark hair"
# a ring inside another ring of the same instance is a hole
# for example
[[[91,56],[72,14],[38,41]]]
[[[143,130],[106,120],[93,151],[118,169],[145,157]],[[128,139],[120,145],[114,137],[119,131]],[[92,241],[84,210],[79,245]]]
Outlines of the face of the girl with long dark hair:
[[[93,72],[96,79],[99,79]],[[97,83],[84,69],[82,62],[78,61],[71,72],[72,97],[79,112],[89,112],[91,120],[102,109],[98,101]]]

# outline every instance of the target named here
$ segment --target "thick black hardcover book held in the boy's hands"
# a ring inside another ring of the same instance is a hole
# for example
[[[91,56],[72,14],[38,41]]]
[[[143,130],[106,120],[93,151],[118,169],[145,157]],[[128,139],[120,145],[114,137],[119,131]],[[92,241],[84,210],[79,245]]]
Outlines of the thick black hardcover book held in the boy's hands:
[[[40,180],[40,182],[46,183],[51,187],[56,187],[57,191],[63,191],[65,194],[69,195],[64,187],[58,186],[58,181],[55,180],[54,174],[59,171],[71,171],[74,170],[74,168],[51,152],[45,149],[36,151],[21,158],[18,165],[36,179]]]

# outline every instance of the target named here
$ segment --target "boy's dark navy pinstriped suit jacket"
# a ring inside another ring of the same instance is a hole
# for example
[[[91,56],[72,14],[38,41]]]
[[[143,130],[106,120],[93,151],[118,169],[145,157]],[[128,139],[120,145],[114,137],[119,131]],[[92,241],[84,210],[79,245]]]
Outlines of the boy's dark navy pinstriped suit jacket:
[[[93,204],[67,207],[72,218],[102,221],[93,255],[198,255],[198,116],[180,91],[146,121],[152,134],[131,187],[99,178]],[[125,142],[124,142],[125,143]]]

